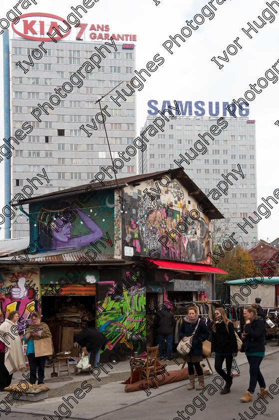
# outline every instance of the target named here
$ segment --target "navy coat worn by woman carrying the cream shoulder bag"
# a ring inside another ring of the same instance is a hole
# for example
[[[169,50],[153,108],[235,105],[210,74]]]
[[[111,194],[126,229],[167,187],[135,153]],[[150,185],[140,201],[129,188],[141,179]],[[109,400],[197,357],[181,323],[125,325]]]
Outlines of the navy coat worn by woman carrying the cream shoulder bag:
[[[190,324],[189,322],[186,322],[183,319],[182,325],[179,331],[179,338],[181,339],[183,337],[190,337],[193,334],[197,326],[197,323],[198,321],[195,322],[194,324]],[[203,354],[203,341],[206,340],[208,336],[209,336],[209,330],[206,326],[206,323],[200,320],[199,326],[192,339],[191,350],[188,354],[194,355],[194,356],[201,356]]]

